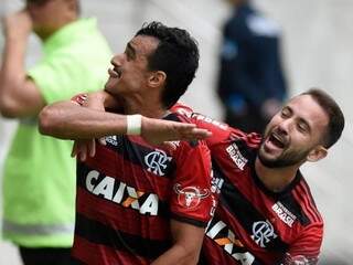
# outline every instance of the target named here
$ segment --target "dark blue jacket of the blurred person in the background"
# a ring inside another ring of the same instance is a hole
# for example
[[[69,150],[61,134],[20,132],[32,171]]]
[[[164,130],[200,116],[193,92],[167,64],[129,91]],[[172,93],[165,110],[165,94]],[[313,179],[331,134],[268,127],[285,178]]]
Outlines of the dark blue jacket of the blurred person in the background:
[[[234,10],[223,29],[217,93],[225,106],[260,108],[269,98],[282,100],[279,29],[249,4]]]

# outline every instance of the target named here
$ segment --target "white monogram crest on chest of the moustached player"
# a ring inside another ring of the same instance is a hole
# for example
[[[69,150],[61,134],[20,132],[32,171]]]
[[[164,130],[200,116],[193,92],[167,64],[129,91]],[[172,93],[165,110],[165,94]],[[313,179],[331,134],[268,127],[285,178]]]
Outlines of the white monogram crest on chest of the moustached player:
[[[162,150],[152,151],[145,157],[145,163],[148,167],[147,170],[158,176],[165,174],[164,170],[171,160],[172,158],[168,157]]]

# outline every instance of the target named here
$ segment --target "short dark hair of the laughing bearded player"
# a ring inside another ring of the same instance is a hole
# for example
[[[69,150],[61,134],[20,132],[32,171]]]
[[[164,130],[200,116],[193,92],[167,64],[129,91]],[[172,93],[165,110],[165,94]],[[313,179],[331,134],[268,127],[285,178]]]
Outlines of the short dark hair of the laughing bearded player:
[[[325,92],[319,88],[311,88],[301,95],[310,95],[329,116],[329,125],[323,135],[323,146],[330,148],[341,137],[344,128],[344,115],[336,102]]]

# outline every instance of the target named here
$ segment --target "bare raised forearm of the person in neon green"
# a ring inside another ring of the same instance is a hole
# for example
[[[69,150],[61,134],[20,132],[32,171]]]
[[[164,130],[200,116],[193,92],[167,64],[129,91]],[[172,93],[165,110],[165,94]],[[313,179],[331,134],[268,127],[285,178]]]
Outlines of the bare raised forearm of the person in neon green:
[[[25,40],[7,38],[0,71],[0,110],[3,116],[12,116],[17,98],[25,83]]]

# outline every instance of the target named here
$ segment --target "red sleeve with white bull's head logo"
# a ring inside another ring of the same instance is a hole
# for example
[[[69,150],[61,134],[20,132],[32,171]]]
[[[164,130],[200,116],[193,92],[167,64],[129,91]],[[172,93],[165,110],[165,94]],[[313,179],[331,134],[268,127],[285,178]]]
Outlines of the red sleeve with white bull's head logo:
[[[211,155],[203,141],[180,141],[170,199],[172,218],[206,226],[215,205],[211,193]]]

